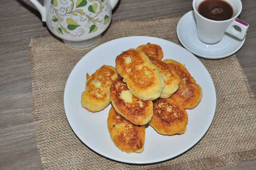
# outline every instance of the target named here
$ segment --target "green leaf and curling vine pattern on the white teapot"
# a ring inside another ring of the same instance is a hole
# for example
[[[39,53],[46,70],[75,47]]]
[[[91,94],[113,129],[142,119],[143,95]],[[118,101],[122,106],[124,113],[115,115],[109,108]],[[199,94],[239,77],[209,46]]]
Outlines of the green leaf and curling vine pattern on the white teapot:
[[[70,1],[70,3],[67,3]],[[88,2],[93,2],[92,5],[88,5]],[[50,9],[53,13],[50,25],[53,30],[56,30],[59,34],[70,36],[81,36],[87,29],[82,28],[77,22],[87,22],[85,27],[88,27],[88,33],[93,33],[106,25],[109,20],[109,15],[103,15],[104,8],[108,8],[105,0],[60,0],[59,3],[62,7],[58,8],[58,1],[51,0]],[[67,5],[67,7],[63,7]],[[81,9],[81,7],[83,7]],[[83,9],[88,9],[87,12]]]

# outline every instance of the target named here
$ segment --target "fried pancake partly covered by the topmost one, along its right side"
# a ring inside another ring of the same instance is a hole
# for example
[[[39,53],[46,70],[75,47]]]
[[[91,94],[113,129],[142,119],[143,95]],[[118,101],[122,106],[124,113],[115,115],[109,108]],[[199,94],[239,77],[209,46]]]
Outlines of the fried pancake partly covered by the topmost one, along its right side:
[[[148,59],[152,64],[154,64],[154,66],[156,66],[164,81],[164,87],[162,89],[160,98],[170,97],[178,89],[180,77],[168,64],[164,63],[163,61],[152,56],[148,56]]]

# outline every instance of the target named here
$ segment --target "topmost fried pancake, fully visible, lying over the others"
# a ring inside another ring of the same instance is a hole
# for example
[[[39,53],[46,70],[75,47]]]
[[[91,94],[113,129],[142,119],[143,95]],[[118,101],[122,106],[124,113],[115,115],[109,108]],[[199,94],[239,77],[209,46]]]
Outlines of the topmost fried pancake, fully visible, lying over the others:
[[[136,49],[129,49],[115,59],[116,70],[133,95],[141,100],[155,100],[161,94],[163,79],[148,57]]]

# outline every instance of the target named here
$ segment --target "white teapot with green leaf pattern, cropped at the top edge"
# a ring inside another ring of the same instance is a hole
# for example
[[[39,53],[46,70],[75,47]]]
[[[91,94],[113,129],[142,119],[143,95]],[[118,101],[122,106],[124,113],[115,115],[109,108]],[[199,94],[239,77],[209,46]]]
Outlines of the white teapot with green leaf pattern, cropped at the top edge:
[[[118,0],[30,0],[49,30],[67,45],[88,47],[110,24]]]

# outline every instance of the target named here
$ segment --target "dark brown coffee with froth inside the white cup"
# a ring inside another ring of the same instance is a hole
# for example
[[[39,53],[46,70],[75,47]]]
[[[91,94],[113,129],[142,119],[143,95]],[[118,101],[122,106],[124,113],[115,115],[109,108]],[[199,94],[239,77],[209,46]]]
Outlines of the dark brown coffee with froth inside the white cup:
[[[198,5],[197,11],[203,17],[215,21],[228,20],[233,16],[232,6],[223,0],[204,0]]]

